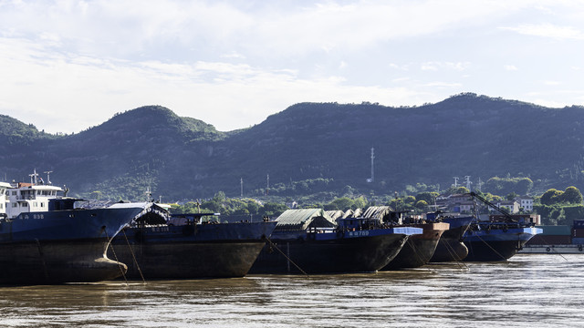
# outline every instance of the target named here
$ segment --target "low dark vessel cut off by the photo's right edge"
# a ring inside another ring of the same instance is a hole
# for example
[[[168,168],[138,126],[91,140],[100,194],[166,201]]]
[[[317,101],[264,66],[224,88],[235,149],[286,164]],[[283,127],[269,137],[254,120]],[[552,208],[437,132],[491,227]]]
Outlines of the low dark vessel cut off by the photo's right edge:
[[[527,241],[521,253],[584,254],[584,220],[574,220],[572,226],[536,226],[542,230]]]

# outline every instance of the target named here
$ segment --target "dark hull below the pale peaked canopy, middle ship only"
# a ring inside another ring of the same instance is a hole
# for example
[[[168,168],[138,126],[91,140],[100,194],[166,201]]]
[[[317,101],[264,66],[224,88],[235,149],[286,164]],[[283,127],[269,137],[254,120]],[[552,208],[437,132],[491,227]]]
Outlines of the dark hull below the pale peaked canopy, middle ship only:
[[[408,239],[408,235],[393,233],[328,240],[318,240],[318,234],[315,239],[310,235],[294,240],[274,237],[274,244],[264,247],[250,273],[376,272]]]

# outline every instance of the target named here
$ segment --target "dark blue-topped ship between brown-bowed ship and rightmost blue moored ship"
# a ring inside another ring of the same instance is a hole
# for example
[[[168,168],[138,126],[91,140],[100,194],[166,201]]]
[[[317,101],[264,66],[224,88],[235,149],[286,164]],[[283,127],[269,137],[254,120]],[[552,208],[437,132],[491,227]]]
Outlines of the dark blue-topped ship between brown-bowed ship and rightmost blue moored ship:
[[[428,220],[450,224],[450,228],[444,231],[438,246],[430,262],[463,261],[468,255],[468,249],[464,245],[464,232],[474,220],[472,216],[436,216],[436,213],[426,214]]]

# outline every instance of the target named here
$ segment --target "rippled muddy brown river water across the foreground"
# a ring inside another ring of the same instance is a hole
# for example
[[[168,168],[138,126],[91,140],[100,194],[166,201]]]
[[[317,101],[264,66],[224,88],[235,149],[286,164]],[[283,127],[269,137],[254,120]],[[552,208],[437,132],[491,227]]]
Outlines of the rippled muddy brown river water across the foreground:
[[[7,327],[542,327],[584,321],[584,256],[402,272],[0,287]]]

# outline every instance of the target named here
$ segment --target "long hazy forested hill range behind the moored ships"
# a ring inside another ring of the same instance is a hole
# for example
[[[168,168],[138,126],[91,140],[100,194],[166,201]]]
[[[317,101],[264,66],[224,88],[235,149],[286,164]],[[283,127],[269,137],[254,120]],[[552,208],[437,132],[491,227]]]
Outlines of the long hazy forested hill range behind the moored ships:
[[[453,177],[528,177],[536,188],[584,186],[584,108],[544,108],[462,94],[421,107],[300,103],[252,128],[219,132],[168,108],[144,107],[69,136],[0,119],[0,173],[52,170],[78,193],[166,200],[266,192],[391,194]],[[9,128],[10,125],[13,128]],[[17,128],[14,128],[14,127]],[[375,151],[370,178],[371,148]]]

